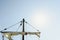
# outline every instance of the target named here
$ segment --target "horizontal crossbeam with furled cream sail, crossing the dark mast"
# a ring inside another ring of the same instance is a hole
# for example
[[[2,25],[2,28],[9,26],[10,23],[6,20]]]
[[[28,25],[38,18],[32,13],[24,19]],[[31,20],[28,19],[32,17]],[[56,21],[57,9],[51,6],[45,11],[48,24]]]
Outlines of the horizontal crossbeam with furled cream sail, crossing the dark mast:
[[[37,35],[38,37],[40,37],[40,32],[10,32],[10,31],[6,31],[6,32],[1,32],[3,33],[6,37],[9,37],[9,36],[15,36],[15,35]]]

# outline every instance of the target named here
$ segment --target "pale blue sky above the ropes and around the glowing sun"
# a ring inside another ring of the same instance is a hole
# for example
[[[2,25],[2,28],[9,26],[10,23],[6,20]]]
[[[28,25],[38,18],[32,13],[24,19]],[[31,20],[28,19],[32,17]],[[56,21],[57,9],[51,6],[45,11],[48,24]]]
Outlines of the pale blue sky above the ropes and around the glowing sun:
[[[47,24],[38,28],[41,31],[40,40],[60,40],[60,0],[0,0],[2,26],[8,27],[22,18],[32,24],[35,14],[47,15]],[[1,30],[3,28],[0,26]]]

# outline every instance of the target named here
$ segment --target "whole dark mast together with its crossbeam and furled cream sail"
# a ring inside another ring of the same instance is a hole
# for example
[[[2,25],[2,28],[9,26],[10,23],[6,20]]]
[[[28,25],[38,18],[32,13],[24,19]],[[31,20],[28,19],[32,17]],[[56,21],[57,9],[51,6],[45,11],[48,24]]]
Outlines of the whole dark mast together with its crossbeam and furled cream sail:
[[[22,32],[12,32],[12,31],[1,31],[2,34],[2,40],[4,40],[4,36],[7,37],[9,40],[12,40],[11,36],[16,36],[21,34],[22,35],[22,40],[24,40],[24,35],[30,34],[30,35],[36,35],[40,38],[40,32],[25,32],[25,19],[23,18],[22,22]]]

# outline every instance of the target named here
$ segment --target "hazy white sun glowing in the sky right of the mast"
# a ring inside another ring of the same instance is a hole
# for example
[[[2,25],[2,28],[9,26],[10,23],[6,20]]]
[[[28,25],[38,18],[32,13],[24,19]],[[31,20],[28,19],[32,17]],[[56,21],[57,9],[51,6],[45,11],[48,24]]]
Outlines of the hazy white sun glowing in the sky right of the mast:
[[[46,15],[44,14],[35,14],[32,16],[32,23],[36,26],[43,26],[47,23]]]

